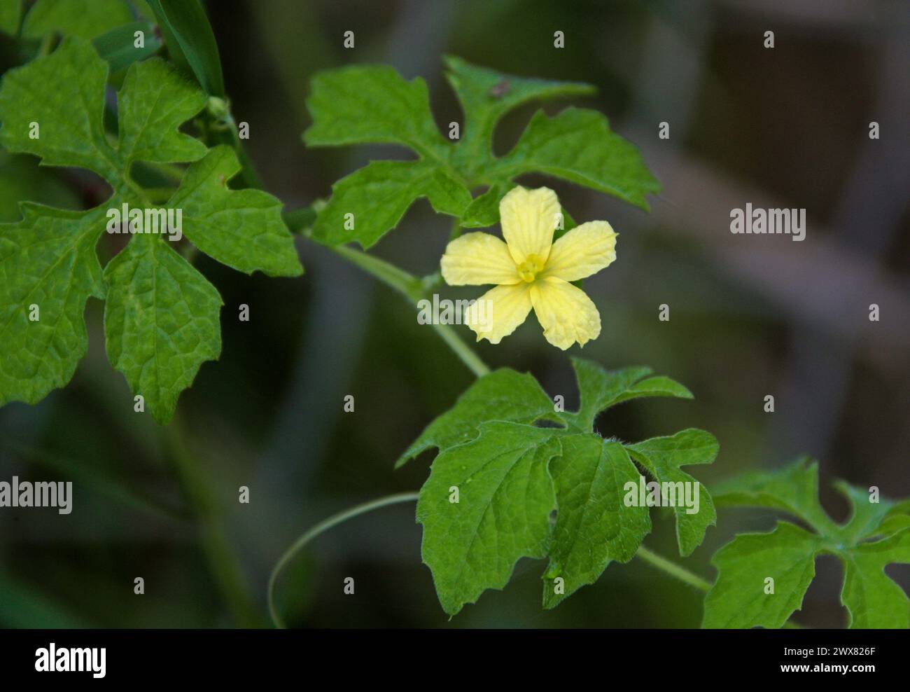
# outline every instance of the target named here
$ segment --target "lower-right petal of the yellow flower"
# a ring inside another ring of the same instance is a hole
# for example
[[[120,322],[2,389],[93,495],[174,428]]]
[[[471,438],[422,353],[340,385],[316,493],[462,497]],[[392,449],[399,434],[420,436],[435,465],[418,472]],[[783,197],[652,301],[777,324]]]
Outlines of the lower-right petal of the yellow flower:
[[[601,315],[588,295],[568,281],[543,279],[531,284],[531,303],[543,336],[562,351],[583,346],[601,333]]]

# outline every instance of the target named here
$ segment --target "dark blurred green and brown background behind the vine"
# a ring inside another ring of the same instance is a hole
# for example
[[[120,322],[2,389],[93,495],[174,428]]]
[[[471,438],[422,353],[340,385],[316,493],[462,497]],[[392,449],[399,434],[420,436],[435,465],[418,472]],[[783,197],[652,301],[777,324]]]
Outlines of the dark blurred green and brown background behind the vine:
[[[648,364],[694,402],[644,400],[599,420],[636,440],[701,427],[721,442],[698,477],[713,483],[821,460],[822,502],[838,520],[834,478],[910,495],[910,5],[904,0],[217,0],[207,4],[227,91],[250,124],[248,152],[288,209],[329,196],[333,181],[397,148],[304,148],[304,99],[319,69],[389,63],[430,85],[437,122],[460,119],[441,75],[451,53],[523,76],[591,82],[577,101],[606,113],[662,180],[645,214],[545,178],[579,222],[621,234],[609,270],[585,282],[603,331],[583,355],[617,368]],[[356,47],[342,47],[353,31]],[[553,47],[563,31],[565,47]],[[773,30],[775,47],[763,47]],[[35,42],[0,37],[3,69]],[[113,94],[113,92],[111,92]],[[511,114],[511,147],[536,106]],[[548,110],[561,105],[548,106]],[[870,121],[881,138],[867,136]],[[658,138],[666,121],[671,138]],[[0,218],[33,199],[73,209],[104,201],[83,171],[38,168],[0,153]],[[733,236],[729,213],[806,208],[807,238]],[[437,269],[450,219],[421,201],[374,250],[423,275]],[[103,241],[102,245],[106,242]],[[415,490],[429,459],[392,464],[472,376],[416,310],[325,249],[298,239],[303,279],[247,277],[198,256],[225,301],[223,352],[207,363],[162,429],[133,412],[106,360],[102,304],[86,310],[89,352],[76,377],[35,407],[0,409],[0,480],[72,481],[74,510],[0,510],[2,626],[265,626],[268,572],[302,531],[351,504]],[[105,252],[105,248],[101,250]],[[110,249],[107,249],[109,252]],[[251,319],[237,319],[238,305]],[[658,321],[658,306],[671,320]],[[870,303],[881,321],[868,319]],[[470,331],[459,327],[467,340]],[[470,341],[470,340],[469,340]],[[491,366],[531,371],[567,406],[571,367],[531,318]],[[578,352],[575,347],[571,352]],[[356,411],[342,410],[353,394]],[[773,394],[775,412],[763,412]],[[238,487],[250,504],[238,504]],[[701,595],[648,565],[610,565],[596,585],[541,611],[543,562],[521,562],[502,593],[452,620],[420,563],[412,504],[333,529],[279,588],[292,626],[698,626]],[[773,515],[722,510],[685,561],[713,579],[713,551]],[[645,544],[679,559],[672,519]],[[818,578],[796,620],[844,626],[841,567]],[[910,588],[910,568],[888,573]],[[142,576],[145,595],[133,594]],[[352,576],[355,595],[344,595]]]

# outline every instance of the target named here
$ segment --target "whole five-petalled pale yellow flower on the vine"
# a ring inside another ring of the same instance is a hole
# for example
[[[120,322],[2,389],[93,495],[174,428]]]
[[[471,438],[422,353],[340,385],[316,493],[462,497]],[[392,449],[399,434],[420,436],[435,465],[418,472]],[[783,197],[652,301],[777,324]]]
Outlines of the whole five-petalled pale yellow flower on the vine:
[[[608,267],[616,259],[617,234],[606,221],[589,221],[553,242],[560,213],[550,188],[514,188],[500,202],[505,242],[489,233],[466,233],[449,243],[440,262],[446,283],[498,284],[467,311],[465,323],[478,341],[499,343],[531,308],[543,336],[563,351],[601,333],[597,308],[570,281]]]

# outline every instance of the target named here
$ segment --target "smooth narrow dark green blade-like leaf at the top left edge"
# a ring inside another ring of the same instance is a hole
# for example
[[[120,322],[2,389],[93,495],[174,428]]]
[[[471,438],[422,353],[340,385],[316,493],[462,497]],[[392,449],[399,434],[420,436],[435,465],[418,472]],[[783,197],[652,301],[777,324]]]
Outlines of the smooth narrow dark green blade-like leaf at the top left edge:
[[[167,50],[178,66],[196,76],[210,96],[224,97],[221,57],[206,11],[199,0],[148,0],[165,38]]]

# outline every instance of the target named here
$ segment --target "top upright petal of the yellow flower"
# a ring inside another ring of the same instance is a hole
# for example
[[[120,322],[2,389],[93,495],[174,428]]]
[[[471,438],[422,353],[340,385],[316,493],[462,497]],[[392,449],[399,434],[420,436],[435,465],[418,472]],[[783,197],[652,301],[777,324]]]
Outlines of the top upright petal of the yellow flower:
[[[560,200],[550,188],[512,189],[500,202],[502,237],[509,245],[515,264],[528,255],[547,261],[556,228]]]

